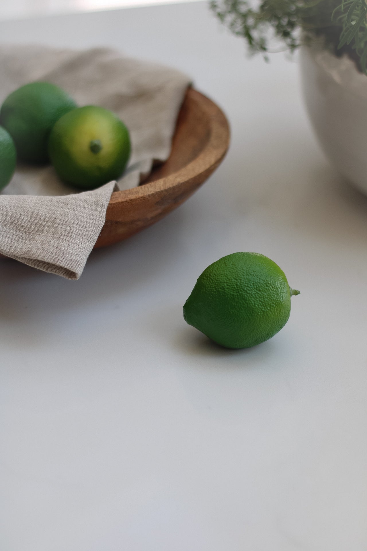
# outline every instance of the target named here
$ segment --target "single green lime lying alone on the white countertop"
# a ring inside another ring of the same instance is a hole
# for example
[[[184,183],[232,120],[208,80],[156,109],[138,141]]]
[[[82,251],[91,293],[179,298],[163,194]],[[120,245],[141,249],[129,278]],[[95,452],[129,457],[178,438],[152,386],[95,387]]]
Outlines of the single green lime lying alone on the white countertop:
[[[256,252],[210,264],[184,305],[184,318],[227,348],[250,348],[273,337],[291,314],[291,289],[279,266]]]

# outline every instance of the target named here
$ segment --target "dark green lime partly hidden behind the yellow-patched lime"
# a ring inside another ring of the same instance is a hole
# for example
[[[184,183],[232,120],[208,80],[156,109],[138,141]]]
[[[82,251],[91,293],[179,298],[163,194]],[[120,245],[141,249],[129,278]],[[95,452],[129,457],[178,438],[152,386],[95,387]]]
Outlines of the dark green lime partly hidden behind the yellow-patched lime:
[[[0,110],[0,125],[12,136],[25,163],[47,163],[47,141],[54,123],[76,104],[50,82],[31,82],[8,95]]]

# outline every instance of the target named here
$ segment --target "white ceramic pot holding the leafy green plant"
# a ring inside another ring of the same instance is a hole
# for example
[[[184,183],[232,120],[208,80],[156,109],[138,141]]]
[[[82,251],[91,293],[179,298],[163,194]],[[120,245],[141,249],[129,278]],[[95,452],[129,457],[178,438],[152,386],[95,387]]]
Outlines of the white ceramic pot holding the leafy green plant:
[[[302,48],[300,64],[306,107],[322,148],[367,193],[367,77],[347,56],[317,45]]]

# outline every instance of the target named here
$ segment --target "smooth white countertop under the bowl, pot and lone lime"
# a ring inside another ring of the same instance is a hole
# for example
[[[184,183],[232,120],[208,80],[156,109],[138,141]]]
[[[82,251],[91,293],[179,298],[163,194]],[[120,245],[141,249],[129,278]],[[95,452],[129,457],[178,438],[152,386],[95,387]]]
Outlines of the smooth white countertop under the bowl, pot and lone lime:
[[[297,64],[248,60],[205,3],[0,36],[171,64],[232,127],[210,180],[78,282],[1,262],[1,550],[365,551],[367,198],[321,153]],[[231,351],[182,306],[243,250],[301,294],[280,333]]]

